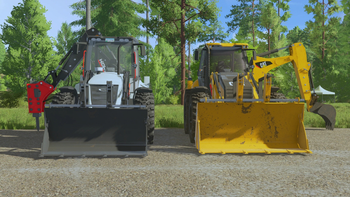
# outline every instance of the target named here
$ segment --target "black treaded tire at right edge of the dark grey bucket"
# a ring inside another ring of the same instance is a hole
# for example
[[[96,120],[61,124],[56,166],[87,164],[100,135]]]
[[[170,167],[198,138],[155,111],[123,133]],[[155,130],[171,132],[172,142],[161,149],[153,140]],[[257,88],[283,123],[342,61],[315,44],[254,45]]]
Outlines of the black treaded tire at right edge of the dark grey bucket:
[[[155,111],[154,111],[154,96],[152,92],[136,92],[134,105],[145,105],[147,108],[147,141],[148,144],[153,144],[154,127],[155,127]]]

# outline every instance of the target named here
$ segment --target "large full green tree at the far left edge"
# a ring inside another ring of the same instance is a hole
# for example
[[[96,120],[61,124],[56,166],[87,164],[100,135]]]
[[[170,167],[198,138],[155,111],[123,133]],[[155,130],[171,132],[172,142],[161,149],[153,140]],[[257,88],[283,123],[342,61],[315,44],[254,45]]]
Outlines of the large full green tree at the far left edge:
[[[42,80],[58,64],[47,35],[51,22],[44,16],[46,11],[38,0],[23,0],[1,25],[1,39],[9,46],[0,72],[12,91],[24,93],[27,83]]]

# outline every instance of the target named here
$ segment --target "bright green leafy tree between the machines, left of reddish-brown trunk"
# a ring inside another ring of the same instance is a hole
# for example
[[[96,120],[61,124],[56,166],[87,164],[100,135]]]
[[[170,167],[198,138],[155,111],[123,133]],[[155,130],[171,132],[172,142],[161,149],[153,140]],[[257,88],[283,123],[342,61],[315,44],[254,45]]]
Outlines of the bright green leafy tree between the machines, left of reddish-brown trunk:
[[[159,39],[154,51],[150,53],[150,62],[141,59],[141,77],[150,76],[151,89],[155,96],[155,104],[167,102],[172,93],[172,79],[175,77],[175,68],[178,58],[174,58],[173,48]]]

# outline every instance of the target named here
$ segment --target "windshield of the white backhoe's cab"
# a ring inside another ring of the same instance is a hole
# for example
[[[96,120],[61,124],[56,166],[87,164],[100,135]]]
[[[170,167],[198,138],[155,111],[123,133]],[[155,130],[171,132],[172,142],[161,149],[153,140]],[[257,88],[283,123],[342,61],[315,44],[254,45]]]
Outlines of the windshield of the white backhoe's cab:
[[[91,58],[87,57],[87,65],[91,68],[92,72],[95,72],[94,67],[102,67],[103,72],[118,72],[118,47],[120,45],[120,68],[119,72],[123,71],[132,72],[133,67],[131,65],[135,64],[135,57],[133,54],[133,46],[131,42],[92,42],[89,45],[89,52],[91,52]],[[89,61],[88,61],[89,59]]]

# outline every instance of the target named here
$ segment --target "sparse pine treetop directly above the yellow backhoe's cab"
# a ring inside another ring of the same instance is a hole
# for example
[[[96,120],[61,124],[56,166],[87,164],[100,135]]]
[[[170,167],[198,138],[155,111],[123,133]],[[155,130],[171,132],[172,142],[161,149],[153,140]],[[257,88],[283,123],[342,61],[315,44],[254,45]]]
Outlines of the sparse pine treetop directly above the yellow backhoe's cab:
[[[260,24],[261,5],[262,0],[238,0],[240,5],[232,5],[230,14],[225,18],[232,18],[231,21],[226,22],[228,26],[228,32],[234,32],[236,29],[240,29],[242,34],[252,34],[253,47],[255,47],[256,31]]]

